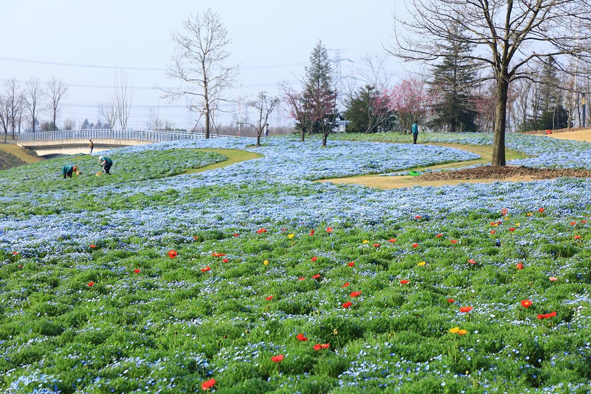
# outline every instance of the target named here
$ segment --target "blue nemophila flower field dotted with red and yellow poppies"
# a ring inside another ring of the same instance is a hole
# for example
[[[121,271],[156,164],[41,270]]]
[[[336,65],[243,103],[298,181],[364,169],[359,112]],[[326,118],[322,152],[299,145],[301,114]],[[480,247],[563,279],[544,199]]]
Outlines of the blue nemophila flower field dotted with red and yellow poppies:
[[[372,138],[113,149],[99,177],[88,155],[2,171],[2,391],[588,392],[589,181],[314,182],[476,157]],[[508,146],[589,168],[589,144]],[[195,172],[239,151],[259,157]],[[67,163],[84,174],[64,180]]]

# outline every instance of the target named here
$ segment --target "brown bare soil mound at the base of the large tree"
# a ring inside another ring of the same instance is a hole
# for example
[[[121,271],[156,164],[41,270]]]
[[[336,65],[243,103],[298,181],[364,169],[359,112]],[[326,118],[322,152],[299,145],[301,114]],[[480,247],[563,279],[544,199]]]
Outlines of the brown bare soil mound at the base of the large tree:
[[[553,179],[561,177],[591,178],[589,170],[569,170],[566,168],[530,168],[524,166],[498,167],[483,165],[463,170],[427,172],[418,176],[420,181],[452,181],[469,179]]]

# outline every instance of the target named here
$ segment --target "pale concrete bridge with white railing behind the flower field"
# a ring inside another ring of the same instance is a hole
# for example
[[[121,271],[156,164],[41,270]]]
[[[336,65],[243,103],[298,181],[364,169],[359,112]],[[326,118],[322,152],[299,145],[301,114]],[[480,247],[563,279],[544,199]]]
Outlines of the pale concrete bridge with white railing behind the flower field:
[[[217,134],[210,134],[210,137],[232,138],[232,136]],[[89,139],[92,139],[95,144],[93,152],[100,152],[119,146],[203,138],[205,138],[203,133],[189,131],[85,129],[21,133],[17,144],[34,149],[40,156],[47,156],[88,153]]]

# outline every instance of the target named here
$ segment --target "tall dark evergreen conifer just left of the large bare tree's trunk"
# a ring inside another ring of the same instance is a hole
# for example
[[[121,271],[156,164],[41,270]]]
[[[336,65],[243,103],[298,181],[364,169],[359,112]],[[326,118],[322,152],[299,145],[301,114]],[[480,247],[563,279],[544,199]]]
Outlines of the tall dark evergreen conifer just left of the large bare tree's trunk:
[[[470,44],[457,40],[460,27],[456,25],[454,32],[449,35],[445,48],[445,56],[441,64],[433,69],[431,93],[439,92],[433,104],[434,128],[449,128],[450,132],[476,131],[476,116],[474,96],[471,86],[476,79],[476,70],[469,63],[466,54],[472,51]]]

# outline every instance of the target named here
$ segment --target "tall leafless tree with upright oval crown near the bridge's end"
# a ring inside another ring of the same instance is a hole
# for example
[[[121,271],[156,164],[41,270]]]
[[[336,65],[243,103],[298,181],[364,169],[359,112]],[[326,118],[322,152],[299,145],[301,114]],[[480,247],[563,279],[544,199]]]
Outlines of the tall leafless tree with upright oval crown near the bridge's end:
[[[171,34],[176,48],[167,71],[168,76],[180,79],[181,86],[165,90],[164,97],[188,98],[188,108],[204,116],[205,138],[209,138],[212,109],[222,100],[220,92],[234,83],[238,66],[225,64],[231,41],[219,14],[207,9],[189,17],[183,27],[183,32]]]

